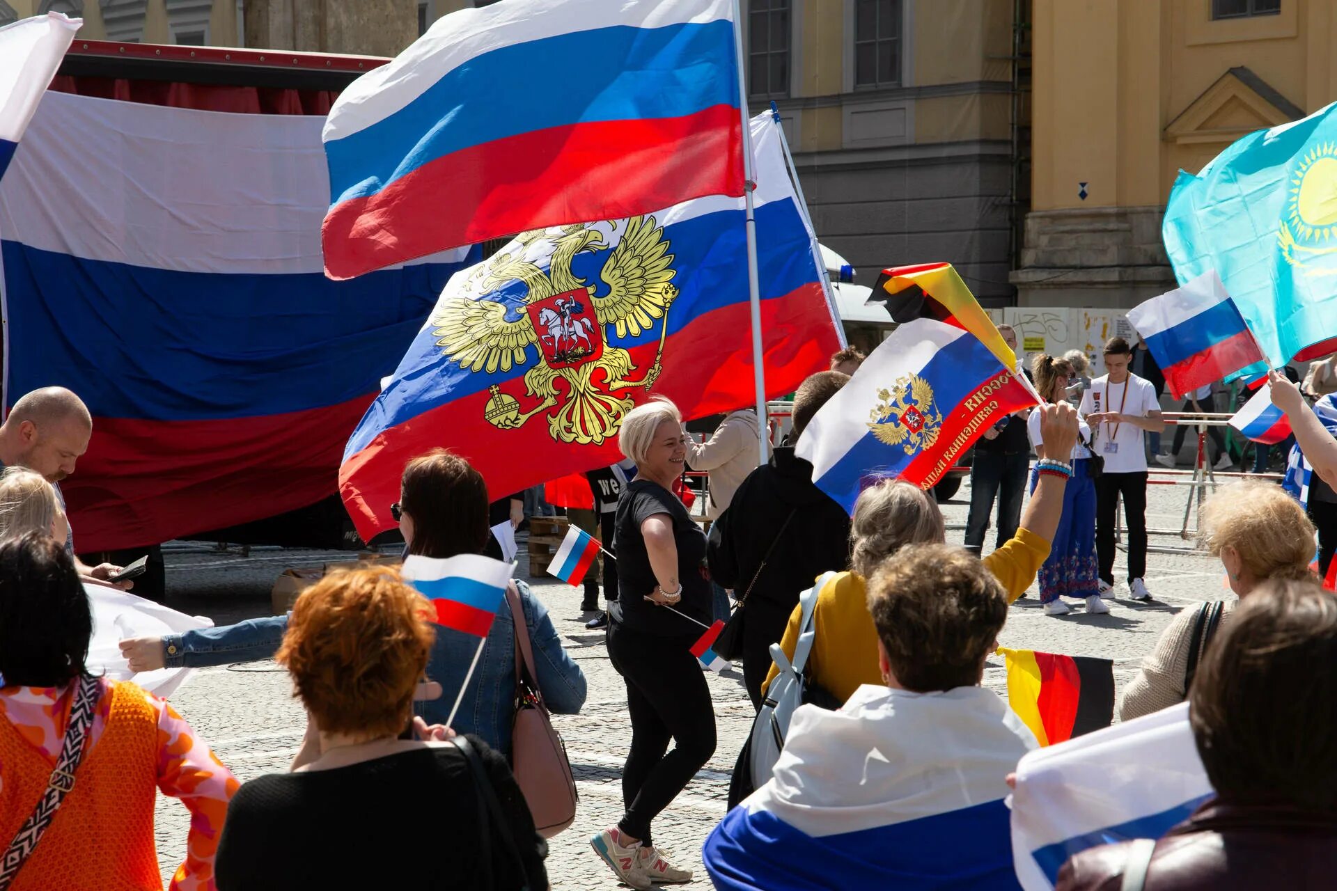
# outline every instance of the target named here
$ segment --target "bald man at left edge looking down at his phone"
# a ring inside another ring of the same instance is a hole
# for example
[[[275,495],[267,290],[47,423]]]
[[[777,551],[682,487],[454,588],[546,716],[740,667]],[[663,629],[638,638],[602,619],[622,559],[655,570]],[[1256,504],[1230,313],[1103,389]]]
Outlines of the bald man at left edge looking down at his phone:
[[[66,497],[60,481],[75,472],[75,464],[88,450],[92,438],[92,415],[78,395],[64,387],[43,387],[21,397],[0,425],[0,468],[28,468],[55,486],[62,509]],[[66,550],[74,554],[74,529],[66,538]],[[120,572],[115,564],[86,565],[75,557],[75,568],[84,581],[127,590],[132,582],[111,584],[108,576]]]

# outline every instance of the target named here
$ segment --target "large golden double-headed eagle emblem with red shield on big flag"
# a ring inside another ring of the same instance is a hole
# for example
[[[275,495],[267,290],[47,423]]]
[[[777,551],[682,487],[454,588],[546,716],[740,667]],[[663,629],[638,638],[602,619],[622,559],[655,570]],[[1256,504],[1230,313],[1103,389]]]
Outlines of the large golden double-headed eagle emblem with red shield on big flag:
[[[602,445],[616,435],[635,406],[627,393],[650,387],[659,377],[668,307],[678,297],[670,285],[674,255],[654,216],[607,226],[616,234],[619,224],[622,238],[599,270],[599,283],[572,270],[578,255],[608,246],[598,224],[580,223],[517,236],[473,271],[463,295],[439,305],[432,333],[460,367],[492,374],[533,362],[524,373],[525,395],[537,401],[532,407],[521,406],[500,385],[489,387],[484,417],[495,426],[517,429],[548,411],[554,439]],[[535,246],[551,248],[547,273],[527,259]],[[519,307],[513,301],[489,299],[503,289],[512,291],[516,282],[524,290]],[[606,329],[626,338],[655,325],[660,326],[655,359],[631,379],[636,371],[631,353],[608,343]]]

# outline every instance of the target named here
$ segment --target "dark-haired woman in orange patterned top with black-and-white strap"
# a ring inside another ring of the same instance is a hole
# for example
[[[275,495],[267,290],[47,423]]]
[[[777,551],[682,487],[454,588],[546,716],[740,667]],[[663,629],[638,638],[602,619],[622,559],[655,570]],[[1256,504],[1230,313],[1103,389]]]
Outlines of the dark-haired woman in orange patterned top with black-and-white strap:
[[[49,514],[35,522],[49,524]],[[191,812],[172,891],[213,890],[238,783],[166,701],[87,673],[91,633],[88,598],[64,548],[37,530],[0,541],[0,846],[8,851],[0,860],[25,854],[9,891],[160,888],[156,789]],[[91,721],[80,720],[90,711]],[[86,727],[82,757],[62,776],[55,769],[68,767],[71,724]],[[49,812],[53,787],[68,792],[33,844],[39,800]],[[0,867],[0,884],[4,878]]]

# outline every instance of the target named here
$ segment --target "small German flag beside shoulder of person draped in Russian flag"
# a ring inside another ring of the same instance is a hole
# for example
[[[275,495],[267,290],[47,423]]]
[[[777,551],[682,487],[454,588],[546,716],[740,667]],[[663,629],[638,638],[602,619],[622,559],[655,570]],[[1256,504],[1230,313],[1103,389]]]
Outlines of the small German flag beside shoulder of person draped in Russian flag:
[[[1054,745],[1114,721],[1114,663],[1087,656],[999,647],[1007,697],[1040,745]]]

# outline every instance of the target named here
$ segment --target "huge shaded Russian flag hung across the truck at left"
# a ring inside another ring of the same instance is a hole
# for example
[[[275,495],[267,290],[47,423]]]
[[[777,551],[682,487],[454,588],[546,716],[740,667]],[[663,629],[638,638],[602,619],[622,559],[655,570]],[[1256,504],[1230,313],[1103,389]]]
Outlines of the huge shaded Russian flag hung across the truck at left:
[[[92,442],[62,484],[80,548],[337,492],[381,377],[477,258],[329,281],[321,126],[43,99],[0,180],[5,401],[63,385],[88,403]]]

